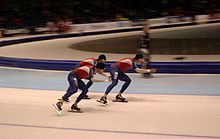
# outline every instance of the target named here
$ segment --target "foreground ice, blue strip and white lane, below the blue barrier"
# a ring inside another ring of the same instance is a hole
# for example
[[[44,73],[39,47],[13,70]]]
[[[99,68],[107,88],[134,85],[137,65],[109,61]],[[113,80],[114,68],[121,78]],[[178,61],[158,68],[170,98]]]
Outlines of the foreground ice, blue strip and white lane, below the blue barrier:
[[[79,104],[84,113],[67,112],[76,93],[60,116],[52,104],[65,93],[67,73],[1,67],[1,138],[220,138],[220,75],[129,74],[128,103],[111,101],[120,83],[109,104],[99,104],[108,83],[94,83],[92,99]]]

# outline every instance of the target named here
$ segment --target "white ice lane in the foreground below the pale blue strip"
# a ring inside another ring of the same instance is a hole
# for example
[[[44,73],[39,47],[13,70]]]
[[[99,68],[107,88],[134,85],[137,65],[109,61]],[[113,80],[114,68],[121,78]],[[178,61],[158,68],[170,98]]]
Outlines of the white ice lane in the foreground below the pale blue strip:
[[[220,96],[124,94],[128,103],[82,100],[84,113],[59,116],[52,108],[64,91],[0,88],[1,139],[220,138]]]

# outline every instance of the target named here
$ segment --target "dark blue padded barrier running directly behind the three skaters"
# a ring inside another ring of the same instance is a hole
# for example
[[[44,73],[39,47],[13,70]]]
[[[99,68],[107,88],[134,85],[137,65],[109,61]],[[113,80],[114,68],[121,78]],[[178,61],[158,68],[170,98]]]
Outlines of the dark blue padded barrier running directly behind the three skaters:
[[[70,71],[78,62],[0,57],[0,66],[41,70]],[[106,63],[107,72],[114,62]],[[151,62],[150,65],[150,68],[157,69],[157,73],[220,74],[220,62]],[[135,71],[128,70],[127,72],[134,73]]]

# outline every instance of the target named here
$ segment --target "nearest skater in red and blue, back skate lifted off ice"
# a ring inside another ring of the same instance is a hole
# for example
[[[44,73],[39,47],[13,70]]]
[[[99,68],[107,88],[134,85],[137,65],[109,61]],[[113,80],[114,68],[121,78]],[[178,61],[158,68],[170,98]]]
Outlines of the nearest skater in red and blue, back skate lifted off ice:
[[[93,82],[105,82],[107,80],[97,80],[93,77],[94,74],[99,73],[102,74],[104,72],[105,65],[104,63],[97,63],[95,67],[93,66],[82,66],[72,70],[68,74],[68,82],[69,88],[67,89],[66,94],[62,96],[59,101],[54,104],[54,107],[58,110],[62,110],[62,105],[64,100],[68,99],[72,94],[76,93],[78,89],[82,90],[81,94],[78,96],[74,104],[71,106],[71,110],[80,111],[81,109],[77,106],[77,104],[86,96],[88,92],[88,87],[82,81],[82,79],[88,78]]]

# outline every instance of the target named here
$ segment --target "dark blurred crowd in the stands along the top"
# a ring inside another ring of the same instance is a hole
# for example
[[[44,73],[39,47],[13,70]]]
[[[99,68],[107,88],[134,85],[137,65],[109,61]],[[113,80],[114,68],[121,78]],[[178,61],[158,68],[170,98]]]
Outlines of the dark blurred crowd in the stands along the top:
[[[0,0],[0,28],[138,20],[220,12],[219,0]]]

